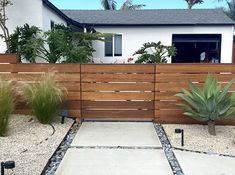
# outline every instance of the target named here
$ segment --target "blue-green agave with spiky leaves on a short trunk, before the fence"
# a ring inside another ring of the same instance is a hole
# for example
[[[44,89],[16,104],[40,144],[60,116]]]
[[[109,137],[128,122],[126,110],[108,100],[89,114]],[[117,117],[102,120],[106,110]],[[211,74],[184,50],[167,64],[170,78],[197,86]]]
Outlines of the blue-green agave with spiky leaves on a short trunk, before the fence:
[[[235,117],[234,94],[228,94],[234,82],[235,79],[228,83],[222,90],[221,85],[218,84],[217,78],[212,79],[211,76],[208,75],[203,89],[201,90],[189,81],[191,92],[183,89],[183,93],[176,94],[176,96],[185,100],[187,104],[178,105],[185,110],[185,115],[198,121],[207,122],[209,133],[216,135],[216,120]]]

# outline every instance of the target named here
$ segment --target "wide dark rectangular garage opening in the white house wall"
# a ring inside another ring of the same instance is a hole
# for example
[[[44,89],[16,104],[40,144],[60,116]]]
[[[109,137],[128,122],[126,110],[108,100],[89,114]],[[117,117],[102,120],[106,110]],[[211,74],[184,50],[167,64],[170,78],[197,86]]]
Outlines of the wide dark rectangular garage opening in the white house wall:
[[[172,63],[220,63],[220,34],[177,34],[172,40],[177,48]]]

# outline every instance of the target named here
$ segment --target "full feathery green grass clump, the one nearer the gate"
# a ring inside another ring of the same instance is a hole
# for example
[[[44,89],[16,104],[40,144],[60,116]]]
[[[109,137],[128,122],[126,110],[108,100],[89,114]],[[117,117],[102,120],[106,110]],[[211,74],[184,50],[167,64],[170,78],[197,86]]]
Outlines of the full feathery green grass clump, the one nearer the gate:
[[[58,116],[64,90],[56,83],[54,74],[46,75],[38,84],[26,85],[23,88],[27,103],[42,124],[49,124]]]

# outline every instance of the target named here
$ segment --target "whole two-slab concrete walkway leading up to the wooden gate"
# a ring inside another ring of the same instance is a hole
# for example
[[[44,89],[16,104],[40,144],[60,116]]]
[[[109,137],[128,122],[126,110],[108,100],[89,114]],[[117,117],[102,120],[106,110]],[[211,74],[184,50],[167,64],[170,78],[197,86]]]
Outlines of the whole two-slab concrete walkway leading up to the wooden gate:
[[[152,123],[84,122],[56,175],[172,175]]]

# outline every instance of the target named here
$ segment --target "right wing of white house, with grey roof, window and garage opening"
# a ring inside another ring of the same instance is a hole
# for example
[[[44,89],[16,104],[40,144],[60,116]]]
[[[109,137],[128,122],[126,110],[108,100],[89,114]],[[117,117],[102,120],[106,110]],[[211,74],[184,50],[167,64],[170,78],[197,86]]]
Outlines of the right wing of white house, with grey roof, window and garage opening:
[[[96,31],[115,34],[112,42],[94,43],[94,58],[104,63],[126,61],[144,43],[158,41],[177,48],[169,63],[200,62],[202,53],[206,57],[217,53],[221,63],[232,61],[234,22],[219,9],[62,11]]]

